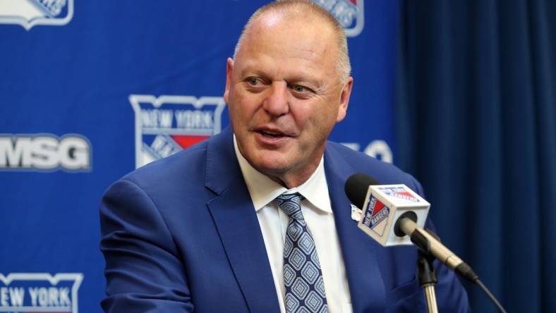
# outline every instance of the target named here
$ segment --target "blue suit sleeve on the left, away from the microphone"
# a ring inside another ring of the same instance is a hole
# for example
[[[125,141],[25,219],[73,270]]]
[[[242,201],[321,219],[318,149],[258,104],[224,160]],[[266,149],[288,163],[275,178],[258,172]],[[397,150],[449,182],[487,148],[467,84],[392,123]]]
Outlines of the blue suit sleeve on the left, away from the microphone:
[[[104,312],[193,312],[183,262],[145,190],[130,180],[111,185],[100,205],[100,225]]]

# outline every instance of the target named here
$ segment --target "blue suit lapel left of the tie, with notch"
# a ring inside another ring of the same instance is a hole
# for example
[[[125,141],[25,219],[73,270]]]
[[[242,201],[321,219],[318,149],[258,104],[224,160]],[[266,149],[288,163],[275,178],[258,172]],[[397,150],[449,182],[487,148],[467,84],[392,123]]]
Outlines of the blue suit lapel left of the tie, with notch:
[[[265,242],[229,128],[207,146],[206,186],[217,194],[207,207],[250,312],[279,312]]]

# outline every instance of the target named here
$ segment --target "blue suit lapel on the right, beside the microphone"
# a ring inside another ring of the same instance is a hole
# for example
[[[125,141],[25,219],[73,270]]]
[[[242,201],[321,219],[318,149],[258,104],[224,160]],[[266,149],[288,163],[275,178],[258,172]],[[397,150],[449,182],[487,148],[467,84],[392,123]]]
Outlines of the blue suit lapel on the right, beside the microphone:
[[[380,247],[351,219],[350,202],[344,192],[346,179],[355,171],[329,145],[325,151],[325,172],[353,312],[385,312],[385,286],[377,262]]]

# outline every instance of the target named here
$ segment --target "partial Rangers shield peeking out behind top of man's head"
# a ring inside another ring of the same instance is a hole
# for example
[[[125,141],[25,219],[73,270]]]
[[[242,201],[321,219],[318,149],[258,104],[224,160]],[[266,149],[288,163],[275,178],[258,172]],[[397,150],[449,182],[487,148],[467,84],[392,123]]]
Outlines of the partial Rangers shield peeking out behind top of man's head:
[[[363,0],[313,0],[344,26],[346,36],[356,37],[363,30]]]

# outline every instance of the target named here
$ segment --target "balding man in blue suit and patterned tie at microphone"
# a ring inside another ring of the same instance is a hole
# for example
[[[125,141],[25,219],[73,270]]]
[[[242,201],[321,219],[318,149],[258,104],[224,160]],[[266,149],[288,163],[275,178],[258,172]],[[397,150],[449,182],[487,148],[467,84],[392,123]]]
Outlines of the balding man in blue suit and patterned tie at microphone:
[[[346,178],[416,180],[327,142],[353,78],[346,37],[311,1],[248,21],[228,59],[231,128],[109,188],[101,205],[107,312],[424,312],[416,249],[351,220]],[[466,312],[438,269],[440,312]]]

